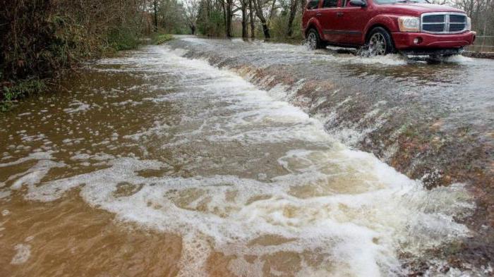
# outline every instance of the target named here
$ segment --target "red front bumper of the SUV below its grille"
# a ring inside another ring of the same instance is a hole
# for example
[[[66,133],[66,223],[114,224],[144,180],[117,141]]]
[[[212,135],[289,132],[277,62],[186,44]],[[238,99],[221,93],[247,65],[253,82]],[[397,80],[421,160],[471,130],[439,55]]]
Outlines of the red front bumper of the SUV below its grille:
[[[476,32],[467,31],[461,34],[434,35],[425,32],[393,32],[394,47],[406,49],[454,49],[474,43]],[[416,40],[418,39],[418,43]]]

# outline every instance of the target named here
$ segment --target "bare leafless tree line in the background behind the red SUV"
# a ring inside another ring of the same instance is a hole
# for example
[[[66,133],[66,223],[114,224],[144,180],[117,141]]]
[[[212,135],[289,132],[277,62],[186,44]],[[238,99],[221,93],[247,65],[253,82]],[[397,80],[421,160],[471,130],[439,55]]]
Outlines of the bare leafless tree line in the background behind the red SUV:
[[[166,0],[176,1],[176,0]],[[494,35],[493,0],[428,0],[462,8],[478,35]],[[163,0],[157,0],[157,5]],[[191,32],[214,37],[301,39],[306,0],[181,0],[182,22]]]

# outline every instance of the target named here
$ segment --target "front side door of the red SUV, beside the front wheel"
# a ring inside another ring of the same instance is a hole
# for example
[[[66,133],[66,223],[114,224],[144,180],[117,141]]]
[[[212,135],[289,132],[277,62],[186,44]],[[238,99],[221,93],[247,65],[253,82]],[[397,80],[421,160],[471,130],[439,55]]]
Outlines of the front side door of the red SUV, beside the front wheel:
[[[339,0],[339,2],[339,8],[335,11],[337,28],[335,41],[346,45],[363,44],[362,33],[370,19],[367,7],[353,6],[350,0]]]

